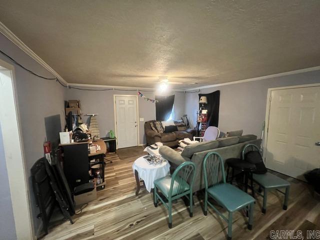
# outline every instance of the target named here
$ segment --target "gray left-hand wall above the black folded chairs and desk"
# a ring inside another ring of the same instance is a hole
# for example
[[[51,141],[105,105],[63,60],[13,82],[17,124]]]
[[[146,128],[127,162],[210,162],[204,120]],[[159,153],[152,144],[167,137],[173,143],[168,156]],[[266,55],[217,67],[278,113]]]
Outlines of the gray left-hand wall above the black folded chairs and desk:
[[[41,65],[25,54],[2,34],[0,34],[0,46],[1,50],[25,67],[38,74],[53,77]],[[0,54],[0,58],[12,64],[2,54]],[[38,158],[43,156],[43,141],[45,138],[44,117],[60,114],[61,121],[64,119],[64,88],[57,84],[55,80],[38,78],[19,66],[15,64],[13,65],[15,67],[15,80],[22,129],[25,169],[29,186],[28,194],[30,198],[34,229],[37,230],[40,220],[35,217],[38,213],[38,209],[35,206],[32,192],[30,168]],[[64,121],[61,122],[61,124],[64,126]]]

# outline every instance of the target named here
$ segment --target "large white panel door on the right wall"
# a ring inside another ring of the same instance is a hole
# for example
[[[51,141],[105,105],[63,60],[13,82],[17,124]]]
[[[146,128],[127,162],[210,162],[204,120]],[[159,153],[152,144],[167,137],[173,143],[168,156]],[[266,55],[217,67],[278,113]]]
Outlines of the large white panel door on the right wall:
[[[320,86],[271,91],[266,166],[304,180],[320,167]]]

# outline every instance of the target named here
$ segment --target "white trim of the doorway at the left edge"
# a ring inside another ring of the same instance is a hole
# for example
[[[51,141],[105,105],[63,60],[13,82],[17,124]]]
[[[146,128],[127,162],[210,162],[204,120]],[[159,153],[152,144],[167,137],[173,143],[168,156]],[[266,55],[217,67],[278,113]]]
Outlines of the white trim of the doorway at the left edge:
[[[0,134],[3,136],[15,232],[17,239],[33,239],[14,66],[1,59],[0,66],[3,90],[0,102],[5,102],[5,106],[0,106],[0,109],[5,107],[5,114],[0,110]]]

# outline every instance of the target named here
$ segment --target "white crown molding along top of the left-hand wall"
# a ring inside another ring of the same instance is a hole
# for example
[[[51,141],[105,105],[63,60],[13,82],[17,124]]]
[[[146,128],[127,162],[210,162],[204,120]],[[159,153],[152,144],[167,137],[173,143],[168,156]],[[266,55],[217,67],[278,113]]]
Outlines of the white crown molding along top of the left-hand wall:
[[[12,31],[10,31],[1,21],[0,21],[0,32],[8,38],[11,42],[13,42],[17,47],[19,47],[22,51],[28,54],[32,59],[38,62],[41,66],[43,66],[46,70],[52,73],[55,77],[59,78],[61,82],[68,85],[68,82],[63,79],[55,70],[53,70],[45,61],[41,59],[37,54],[35,54],[27,45],[23,43]]]

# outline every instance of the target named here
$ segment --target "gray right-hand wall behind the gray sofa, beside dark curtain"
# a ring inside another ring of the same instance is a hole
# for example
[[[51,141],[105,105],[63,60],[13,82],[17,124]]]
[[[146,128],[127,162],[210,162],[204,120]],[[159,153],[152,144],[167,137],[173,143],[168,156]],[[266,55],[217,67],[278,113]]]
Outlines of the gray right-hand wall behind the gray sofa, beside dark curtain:
[[[320,82],[320,70],[292,75],[204,88],[201,93],[220,90],[219,129],[226,132],[243,129],[243,134],[261,135],[265,120],[267,89]],[[185,111],[196,124],[198,93],[186,93]]]

